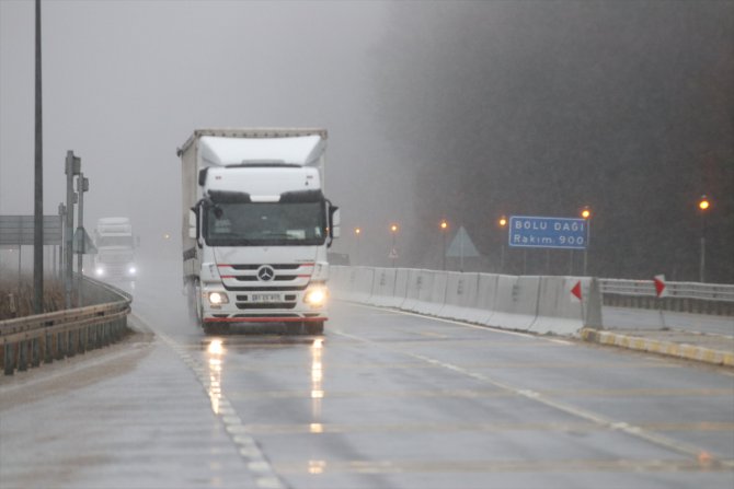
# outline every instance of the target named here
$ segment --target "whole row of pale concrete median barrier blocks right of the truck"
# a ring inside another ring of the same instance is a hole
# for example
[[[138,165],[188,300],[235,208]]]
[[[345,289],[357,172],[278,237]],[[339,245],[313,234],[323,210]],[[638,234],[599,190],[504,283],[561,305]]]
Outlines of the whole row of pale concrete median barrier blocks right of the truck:
[[[583,327],[601,327],[599,287],[588,277],[344,266],[332,270],[332,294],[345,301],[540,334],[577,336]]]

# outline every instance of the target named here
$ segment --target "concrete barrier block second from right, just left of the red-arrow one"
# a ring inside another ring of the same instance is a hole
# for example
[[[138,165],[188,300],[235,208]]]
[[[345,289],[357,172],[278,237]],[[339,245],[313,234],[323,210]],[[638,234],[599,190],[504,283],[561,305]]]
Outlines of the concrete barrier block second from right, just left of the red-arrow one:
[[[540,277],[501,275],[492,315],[483,323],[504,329],[527,330],[538,316]]]

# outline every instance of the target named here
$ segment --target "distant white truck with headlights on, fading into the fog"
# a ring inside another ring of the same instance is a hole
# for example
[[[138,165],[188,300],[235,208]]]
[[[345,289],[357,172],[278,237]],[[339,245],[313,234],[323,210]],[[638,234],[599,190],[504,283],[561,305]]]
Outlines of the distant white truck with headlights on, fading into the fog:
[[[128,218],[102,218],[94,229],[94,276],[104,280],[136,279],[135,240]]]

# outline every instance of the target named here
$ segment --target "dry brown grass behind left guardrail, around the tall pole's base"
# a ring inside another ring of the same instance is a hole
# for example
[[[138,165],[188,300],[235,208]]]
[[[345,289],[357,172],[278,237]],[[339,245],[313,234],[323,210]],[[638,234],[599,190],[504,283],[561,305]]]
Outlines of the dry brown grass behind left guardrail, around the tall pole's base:
[[[15,313],[11,307],[10,295],[15,302]],[[34,301],[33,279],[23,277],[20,280],[0,279],[0,321],[12,317],[33,315]],[[64,287],[60,281],[46,278],[44,280],[44,312],[51,313],[64,308]]]

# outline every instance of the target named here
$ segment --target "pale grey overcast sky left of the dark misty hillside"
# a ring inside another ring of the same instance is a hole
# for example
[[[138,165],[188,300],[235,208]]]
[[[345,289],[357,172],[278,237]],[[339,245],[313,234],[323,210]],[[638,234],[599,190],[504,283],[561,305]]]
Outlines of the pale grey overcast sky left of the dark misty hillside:
[[[385,151],[366,81],[386,3],[54,0],[42,11],[45,213],[65,199],[73,150],[90,179],[88,230],[130,216],[149,240],[177,234],[175,150],[202,127],[325,127],[326,193],[347,223],[365,206],[349,186]],[[30,0],[0,0],[0,214],[32,214]]]

